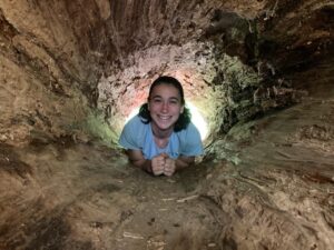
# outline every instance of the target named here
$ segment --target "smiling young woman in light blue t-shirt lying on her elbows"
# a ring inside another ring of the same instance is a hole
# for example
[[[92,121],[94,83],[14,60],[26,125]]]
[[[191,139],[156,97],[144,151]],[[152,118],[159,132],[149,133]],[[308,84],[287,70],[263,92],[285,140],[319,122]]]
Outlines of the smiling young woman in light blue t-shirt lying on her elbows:
[[[194,163],[203,146],[178,80],[159,77],[154,81],[147,103],[124,127],[119,143],[132,164],[155,176],[170,177]]]

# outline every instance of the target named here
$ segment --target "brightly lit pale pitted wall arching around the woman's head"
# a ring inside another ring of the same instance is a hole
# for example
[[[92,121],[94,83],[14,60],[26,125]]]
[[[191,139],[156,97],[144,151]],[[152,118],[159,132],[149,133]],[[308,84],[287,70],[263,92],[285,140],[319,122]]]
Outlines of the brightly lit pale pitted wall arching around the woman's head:
[[[146,102],[153,79],[159,74],[171,76],[179,79],[186,101],[194,104],[207,122],[205,142],[209,144],[218,133],[227,132],[233,124],[249,120],[263,109],[263,97],[253,98],[261,88],[262,77],[237,57],[222,52],[217,58],[217,50],[214,43],[205,42],[135,52],[126,69],[114,68],[109,77],[99,80],[98,108],[119,136],[125,118]],[[267,107],[271,108],[274,107]]]

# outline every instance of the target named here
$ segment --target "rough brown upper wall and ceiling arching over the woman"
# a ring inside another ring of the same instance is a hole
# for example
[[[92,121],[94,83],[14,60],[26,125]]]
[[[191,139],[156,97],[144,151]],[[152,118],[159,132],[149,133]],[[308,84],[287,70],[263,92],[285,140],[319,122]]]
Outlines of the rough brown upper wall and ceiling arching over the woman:
[[[115,141],[163,73],[181,80],[213,136],[227,132],[298,100],[295,76],[333,53],[331,4],[2,1],[1,140],[85,131]]]

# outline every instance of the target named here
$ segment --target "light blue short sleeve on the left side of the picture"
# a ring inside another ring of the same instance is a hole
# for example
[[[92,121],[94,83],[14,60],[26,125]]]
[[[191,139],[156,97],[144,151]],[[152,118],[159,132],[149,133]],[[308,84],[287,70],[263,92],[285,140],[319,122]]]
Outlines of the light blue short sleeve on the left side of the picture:
[[[121,147],[140,150],[140,132],[138,130],[140,129],[140,119],[136,116],[125,124],[118,141]]]

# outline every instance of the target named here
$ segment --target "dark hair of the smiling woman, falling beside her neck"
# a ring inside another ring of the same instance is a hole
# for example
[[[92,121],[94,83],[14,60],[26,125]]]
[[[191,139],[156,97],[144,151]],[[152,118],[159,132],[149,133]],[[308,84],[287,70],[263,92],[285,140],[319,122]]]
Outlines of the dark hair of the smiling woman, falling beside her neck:
[[[163,76],[157,78],[150,86],[149,88],[149,93],[148,93],[148,100],[151,97],[151,92],[154,90],[155,87],[160,86],[160,84],[170,84],[173,87],[175,87],[178,92],[179,96],[181,98],[181,104],[185,106],[186,101],[185,101],[185,94],[184,94],[184,89],[183,86],[180,84],[180,82],[178,80],[176,80],[173,77],[167,77],[167,76]],[[144,103],[140,109],[139,109],[139,117],[141,117],[141,122],[148,124],[151,121],[151,117],[148,110],[148,102]],[[175,126],[174,126],[174,131],[178,132],[183,129],[186,129],[188,127],[188,124],[190,123],[191,120],[191,114],[188,108],[184,108],[184,112],[179,114]]]

